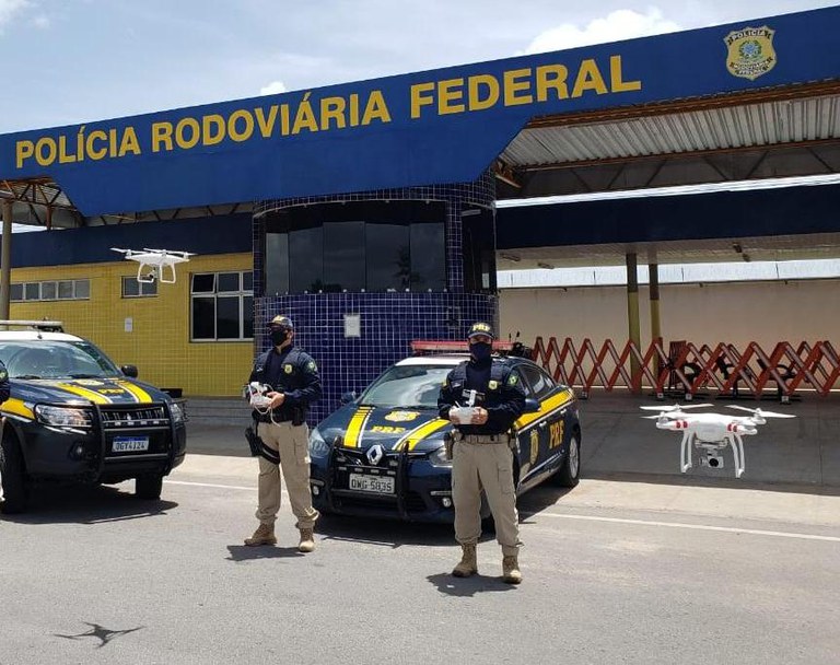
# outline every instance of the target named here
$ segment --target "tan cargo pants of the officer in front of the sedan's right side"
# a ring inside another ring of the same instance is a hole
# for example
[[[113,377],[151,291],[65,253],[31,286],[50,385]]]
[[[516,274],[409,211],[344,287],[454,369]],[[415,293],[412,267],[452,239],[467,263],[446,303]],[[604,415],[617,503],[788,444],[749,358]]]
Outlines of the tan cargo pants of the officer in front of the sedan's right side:
[[[505,443],[456,441],[452,455],[455,539],[475,545],[481,537],[481,488],[495,521],[502,555],[520,551],[520,515],[513,487],[513,451]]]

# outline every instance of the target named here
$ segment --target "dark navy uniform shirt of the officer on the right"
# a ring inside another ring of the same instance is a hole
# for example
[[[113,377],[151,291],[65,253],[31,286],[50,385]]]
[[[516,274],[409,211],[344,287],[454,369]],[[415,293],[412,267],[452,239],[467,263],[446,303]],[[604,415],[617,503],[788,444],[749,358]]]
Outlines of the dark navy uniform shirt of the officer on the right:
[[[438,412],[450,419],[454,406],[467,406],[470,390],[476,390],[474,406],[487,409],[485,424],[456,424],[462,434],[502,434],[525,411],[525,392],[518,375],[499,361],[476,362],[470,359],[452,370],[438,397]]]

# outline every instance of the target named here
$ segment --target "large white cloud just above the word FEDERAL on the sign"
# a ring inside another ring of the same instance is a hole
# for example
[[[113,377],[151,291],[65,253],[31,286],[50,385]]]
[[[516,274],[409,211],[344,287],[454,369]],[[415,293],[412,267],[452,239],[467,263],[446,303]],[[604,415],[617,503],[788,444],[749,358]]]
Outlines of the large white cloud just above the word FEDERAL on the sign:
[[[586,27],[563,23],[537,35],[523,54],[541,54],[576,46],[606,44],[633,37],[661,35],[681,30],[679,24],[663,18],[662,11],[652,7],[640,14],[631,9],[620,9],[595,19]]]

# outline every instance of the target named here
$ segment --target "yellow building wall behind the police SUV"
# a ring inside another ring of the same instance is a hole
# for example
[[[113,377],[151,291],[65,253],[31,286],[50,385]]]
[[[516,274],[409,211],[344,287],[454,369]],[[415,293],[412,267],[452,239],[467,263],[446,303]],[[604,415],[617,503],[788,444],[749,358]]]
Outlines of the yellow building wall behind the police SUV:
[[[177,266],[174,284],[158,284],[158,295],[122,298],[122,277],[138,264],[79,264],[15,268],[12,283],[88,279],[90,300],[13,302],[13,319],[61,320],[65,330],[90,339],[118,365],[137,365],[140,380],[185,396],[238,396],[254,362],[253,341],[190,342],[190,273],[253,270],[247,254],[192,257]],[[130,330],[127,320],[130,319]]]

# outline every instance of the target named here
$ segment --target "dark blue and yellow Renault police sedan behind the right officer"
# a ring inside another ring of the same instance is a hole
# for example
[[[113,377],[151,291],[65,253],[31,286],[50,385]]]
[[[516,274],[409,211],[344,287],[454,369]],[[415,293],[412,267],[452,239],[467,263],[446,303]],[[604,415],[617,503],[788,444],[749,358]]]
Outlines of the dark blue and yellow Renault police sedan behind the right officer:
[[[310,436],[313,503],[323,513],[452,522],[452,462],[438,416],[446,374],[465,355],[412,357],[388,368]],[[501,358],[517,374],[526,412],[516,421],[514,483],[578,485],[581,424],[573,390],[529,360]],[[457,445],[457,443],[455,444]],[[486,510],[482,516],[488,516]]]

